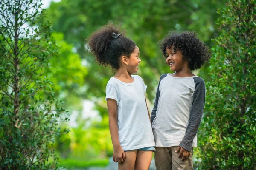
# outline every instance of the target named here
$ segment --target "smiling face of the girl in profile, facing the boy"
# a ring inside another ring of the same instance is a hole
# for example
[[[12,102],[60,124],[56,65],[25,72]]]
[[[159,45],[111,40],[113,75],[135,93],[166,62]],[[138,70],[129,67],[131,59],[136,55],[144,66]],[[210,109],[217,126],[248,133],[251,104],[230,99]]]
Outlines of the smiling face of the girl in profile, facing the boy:
[[[131,56],[127,59],[127,71],[130,74],[135,74],[138,72],[139,69],[139,65],[140,65],[140,50],[139,48],[136,46],[134,48],[134,51],[131,53]]]

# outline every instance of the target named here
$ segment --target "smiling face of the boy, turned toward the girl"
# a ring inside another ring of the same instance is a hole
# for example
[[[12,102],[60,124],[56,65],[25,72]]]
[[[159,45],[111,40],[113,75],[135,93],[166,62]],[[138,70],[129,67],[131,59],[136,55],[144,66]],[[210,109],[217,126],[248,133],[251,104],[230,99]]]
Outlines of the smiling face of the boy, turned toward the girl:
[[[176,48],[176,51],[174,51],[173,48],[174,45],[172,45],[170,48],[166,48],[166,63],[170,66],[172,71],[181,71],[188,67],[188,61],[183,59],[183,55],[179,49]]]

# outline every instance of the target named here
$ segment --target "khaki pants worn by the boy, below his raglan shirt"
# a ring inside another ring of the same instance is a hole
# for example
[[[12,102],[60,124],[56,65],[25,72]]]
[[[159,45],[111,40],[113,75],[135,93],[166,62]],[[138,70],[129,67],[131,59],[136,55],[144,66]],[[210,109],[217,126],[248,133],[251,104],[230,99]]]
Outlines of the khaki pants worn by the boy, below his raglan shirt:
[[[186,161],[181,161],[182,157],[178,157],[180,151],[175,153],[177,146],[156,147],[155,149],[154,158],[157,170],[193,170],[193,149]]]

